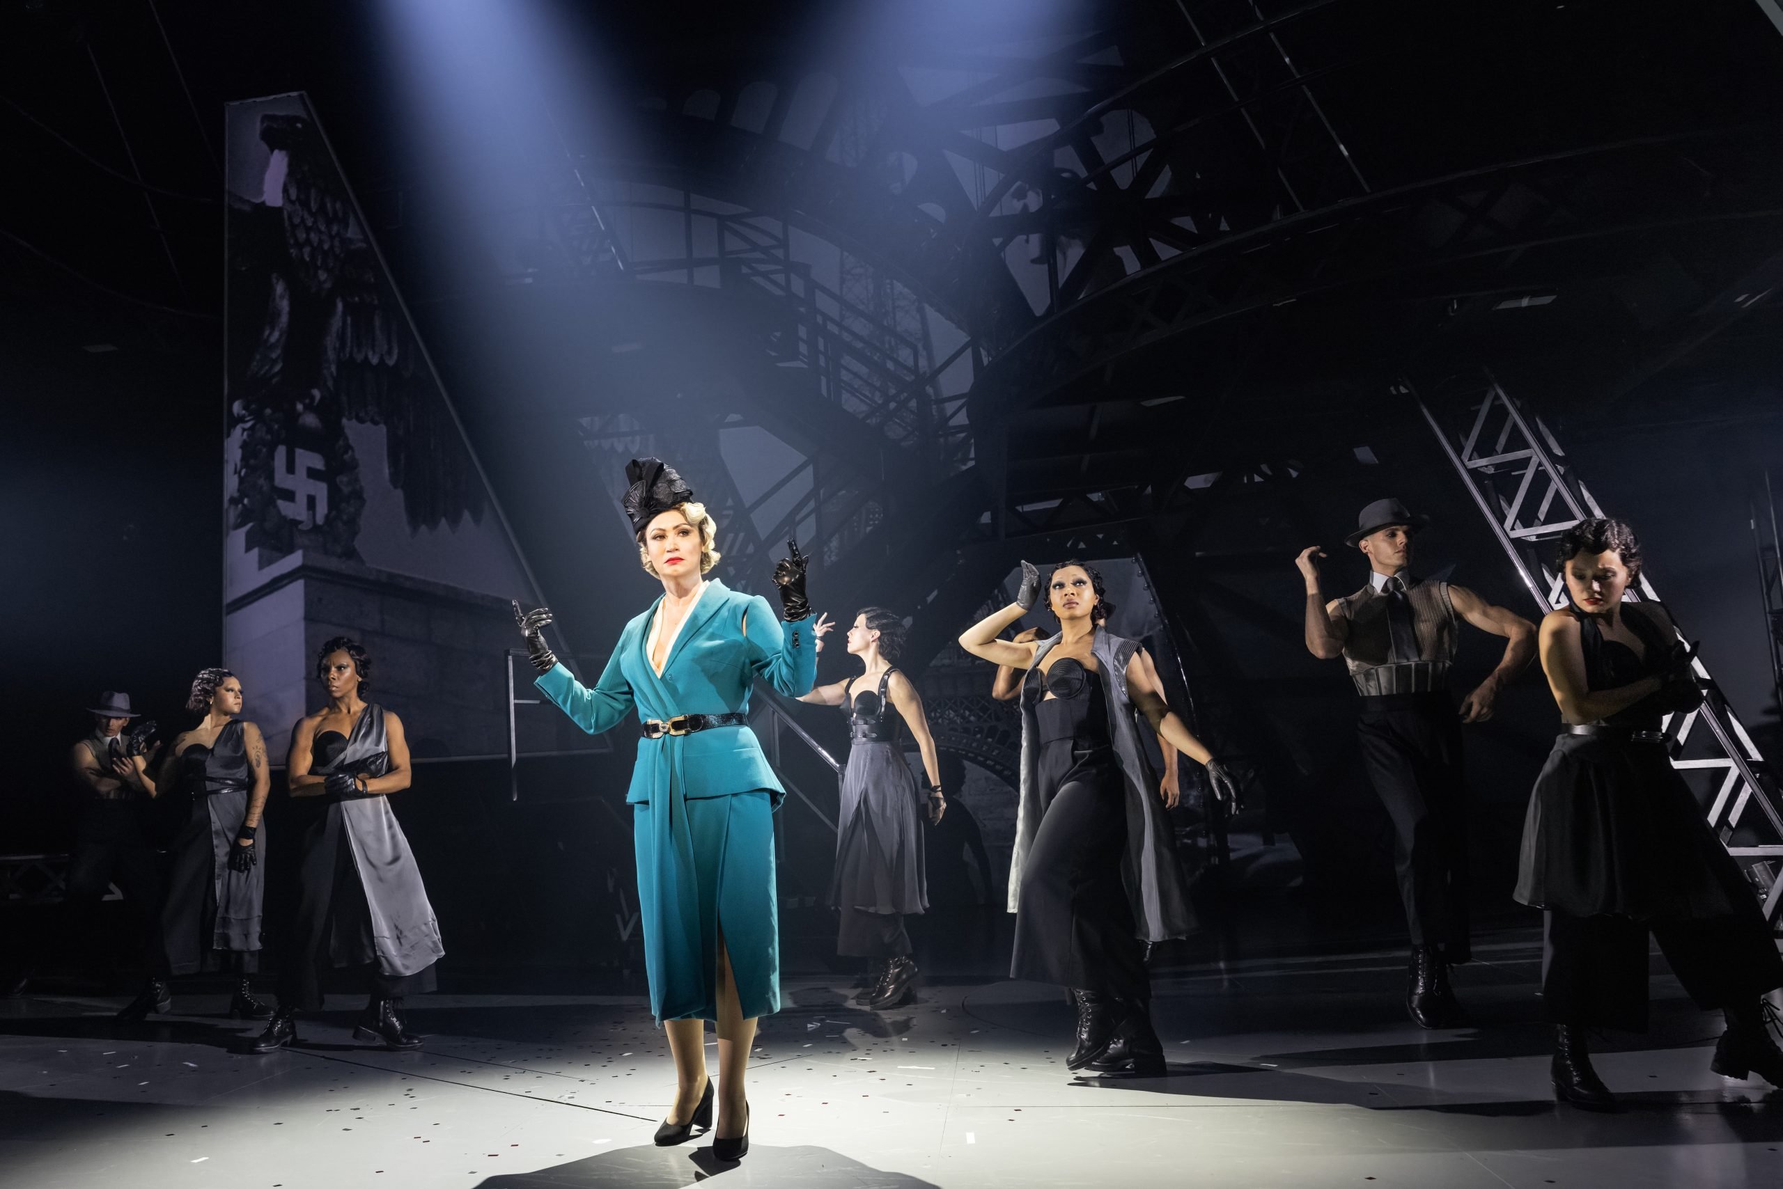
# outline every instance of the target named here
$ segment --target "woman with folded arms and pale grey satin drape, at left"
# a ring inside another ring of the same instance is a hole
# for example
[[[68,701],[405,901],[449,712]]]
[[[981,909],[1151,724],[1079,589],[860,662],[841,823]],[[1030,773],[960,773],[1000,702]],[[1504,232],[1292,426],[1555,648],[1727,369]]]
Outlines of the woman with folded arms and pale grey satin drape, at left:
[[[271,1052],[296,1039],[296,1014],[323,1007],[328,966],[366,972],[369,1000],[353,1034],[387,1048],[419,1048],[403,996],[431,991],[446,952],[415,857],[385,800],[408,788],[401,720],[360,701],[371,658],[337,636],[317,654],[328,706],[291,733],[292,797],[323,799],[298,838],[298,904],[278,973],[278,1013],[255,1041]],[[341,729],[346,727],[346,729]]]

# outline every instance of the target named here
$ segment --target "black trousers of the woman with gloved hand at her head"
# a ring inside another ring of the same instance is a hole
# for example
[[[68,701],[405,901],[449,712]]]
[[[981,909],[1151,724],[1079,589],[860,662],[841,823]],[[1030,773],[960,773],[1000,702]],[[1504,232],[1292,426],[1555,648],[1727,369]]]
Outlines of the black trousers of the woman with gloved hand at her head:
[[[1145,943],[1122,881],[1127,802],[1111,779],[1068,781],[1052,797],[1022,868],[1009,975],[1148,1002]]]

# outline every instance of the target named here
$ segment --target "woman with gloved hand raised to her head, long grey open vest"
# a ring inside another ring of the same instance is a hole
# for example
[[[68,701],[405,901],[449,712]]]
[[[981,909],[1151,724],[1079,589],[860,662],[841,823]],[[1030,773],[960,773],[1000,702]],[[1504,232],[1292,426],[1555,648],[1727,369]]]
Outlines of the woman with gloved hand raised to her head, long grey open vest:
[[[1136,718],[1205,765],[1214,795],[1236,790],[1164,702],[1146,651],[1102,627],[1113,604],[1095,567],[1064,562],[1045,590],[1057,635],[997,638],[1039,599],[1039,570],[1023,562],[1016,601],[959,636],[966,652],[1023,674],[1009,973],[1070,988],[1077,1046],[1066,1068],[1161,1077],[1146,947],[1186,936],[1193,913],[1164,816],[1175,799],[1159,791]]]

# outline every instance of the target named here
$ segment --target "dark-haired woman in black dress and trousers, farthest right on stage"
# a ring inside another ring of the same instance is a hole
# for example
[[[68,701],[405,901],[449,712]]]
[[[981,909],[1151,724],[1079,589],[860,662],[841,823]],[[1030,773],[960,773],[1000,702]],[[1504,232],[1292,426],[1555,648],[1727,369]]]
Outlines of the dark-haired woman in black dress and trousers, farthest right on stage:
[[[1555,1093],[1614,1105],[1585,1029],[1646,1030],[1649,932],[1696,1004],[1728,1018],[1710,1068],[1783,1086],[1760,1005],[1783,986],[1783,959],[1662,731],[1665,715],[1703,701],[1690,654],[1662,606],[1623,601],[1640,574],[1626,524],[1582,521],[1560,538],[1560,563],[1571,606],[1542,620],[1541,656],[1569,726],[1530,797],[1514,893],[1548,909]]]

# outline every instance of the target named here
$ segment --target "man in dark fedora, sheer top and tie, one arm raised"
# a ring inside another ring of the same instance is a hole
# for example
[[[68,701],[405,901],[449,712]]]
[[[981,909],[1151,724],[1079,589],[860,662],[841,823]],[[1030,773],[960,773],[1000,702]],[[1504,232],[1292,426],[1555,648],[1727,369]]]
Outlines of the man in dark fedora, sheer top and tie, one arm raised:
[[[1375,793],[1394,831],[1394,866],[1412,934],[1405,1009],[1426,1029],[1453,1027],[1460,1005],[1448,968],[1471,957],[1467,939],[1467,799],[1460,724],[1485,722],[1505,685],[1535,654],[1535,624],[1466,586],[1412,574],[1412,540],[1430,522],[1398,499],[1362,508],[1344,538],[1368,558],[1368,585],[1325,601],[1311,545],[1294,563],[1307,581],[1307,651],[1344,658],[1362,697],[1357,736]],[[1448,688],[1460,620],[1505,636],[1498,668],[1460,702]]]

